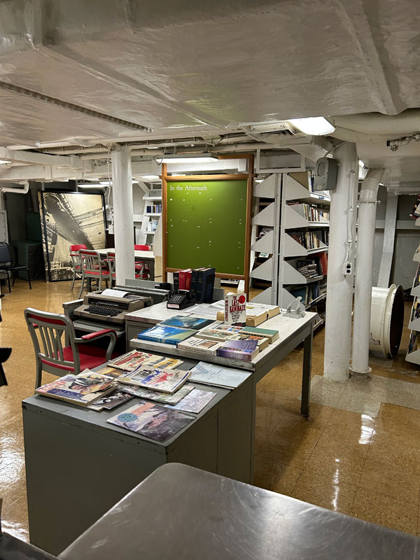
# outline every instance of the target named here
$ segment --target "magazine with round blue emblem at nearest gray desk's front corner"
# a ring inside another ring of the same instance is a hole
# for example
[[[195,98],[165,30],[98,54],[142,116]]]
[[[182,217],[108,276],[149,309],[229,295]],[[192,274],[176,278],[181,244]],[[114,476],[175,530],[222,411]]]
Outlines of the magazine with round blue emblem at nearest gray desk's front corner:
[[[194,420],[179,410],[155,405],[153,402],[140,401],[127,408],[107,422],[132,432],[149,437],[151,440],[165,442]]]

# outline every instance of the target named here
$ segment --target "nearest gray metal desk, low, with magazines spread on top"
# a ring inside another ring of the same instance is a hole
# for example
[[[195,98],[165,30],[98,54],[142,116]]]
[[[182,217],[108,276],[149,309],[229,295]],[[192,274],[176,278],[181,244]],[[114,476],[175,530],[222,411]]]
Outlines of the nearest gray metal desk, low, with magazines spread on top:
[[[197,361],[185,360],[180,369]],[[34,395],[22,402],[31,543],[61,552],[160,465],[186,463],[251,481],[253,382],[235,391],[194,384],[216,397],[164,443],[113,426],[102,412]]]

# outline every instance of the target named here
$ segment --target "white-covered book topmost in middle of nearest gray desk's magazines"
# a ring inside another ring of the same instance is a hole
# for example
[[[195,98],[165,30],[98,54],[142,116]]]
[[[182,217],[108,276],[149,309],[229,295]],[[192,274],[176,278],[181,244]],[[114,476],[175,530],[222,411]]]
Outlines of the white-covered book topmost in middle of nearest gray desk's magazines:
[[[189,371],[182,370],[158,370],[139,367],[134,372],[127,373],[120,377],[120,383],[136,385],[153,391],[163,391],[164,393],[174,393],[190,377]]]

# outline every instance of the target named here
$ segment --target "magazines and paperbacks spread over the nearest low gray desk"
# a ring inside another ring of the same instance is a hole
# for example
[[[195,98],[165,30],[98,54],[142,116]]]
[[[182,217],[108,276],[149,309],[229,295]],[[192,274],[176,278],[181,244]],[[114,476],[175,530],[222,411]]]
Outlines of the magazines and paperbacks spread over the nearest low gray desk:
[[[36,393],[96,412],[110,411],[140,398],[135,405],[106,421],[165,442],[194,421],[197,416],[193,414],[200,414],[216,397],[218,393],[209,390],[209,386],[236,388],[250,375],[205,362],[191,370],[181,370],[182,364],[182,360],[133,350],[96,372],[67,374],[37,388]],[[197,388],[191,381],[209,388]]]

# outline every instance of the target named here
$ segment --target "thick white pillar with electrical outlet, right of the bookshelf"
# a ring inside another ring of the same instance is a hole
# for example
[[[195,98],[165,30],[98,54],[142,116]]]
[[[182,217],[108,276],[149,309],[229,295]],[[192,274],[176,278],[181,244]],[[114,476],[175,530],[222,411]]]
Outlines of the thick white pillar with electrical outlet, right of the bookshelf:
[[[324,377],[349,379],[351,311],[353,308],[354,238],[358,186],[356,145],[336,148],[339,164],[337,188],[330,192],[330,239],[328,249],[327,302],[325,314]],[[346,262],[351,273],[344,274]]]

